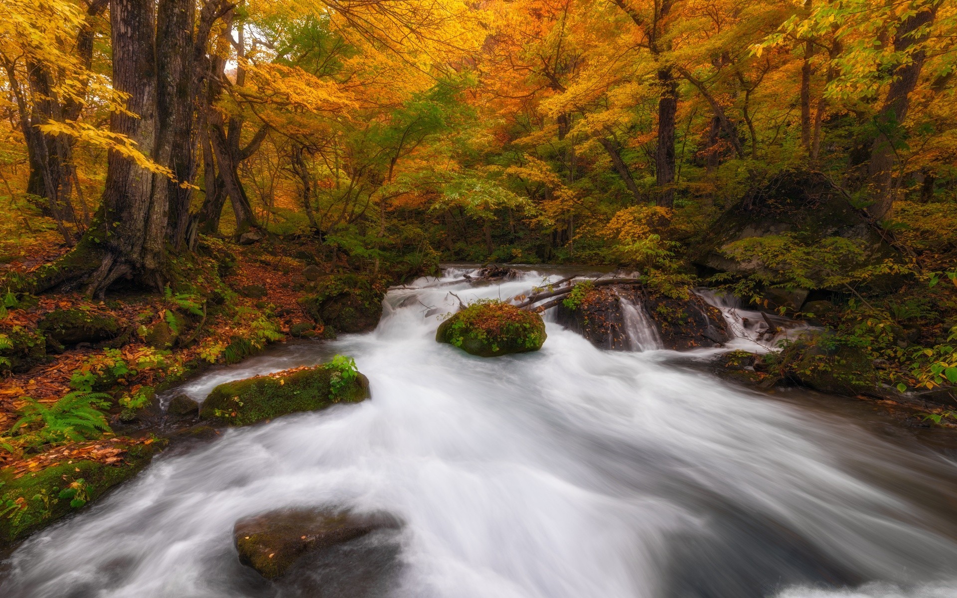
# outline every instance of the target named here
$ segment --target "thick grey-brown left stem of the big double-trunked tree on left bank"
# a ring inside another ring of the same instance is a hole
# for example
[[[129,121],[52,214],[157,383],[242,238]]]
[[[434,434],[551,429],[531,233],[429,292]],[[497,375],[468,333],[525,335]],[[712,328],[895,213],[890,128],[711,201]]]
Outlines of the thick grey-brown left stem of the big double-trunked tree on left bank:
[[[155,22],[151,0],[111,0],[113,86],[128,94],[126,108],[136,117],[113,113],[110,130],[136,143],[148,157],[156,148]],[[159,183],[156,185],[155,183]],[[168,197],[157,175],[110,151],[106,188],[98,214],[100,268],[87,282],[87,294],[102,296],[117,278],[130,277],[154,289],[163,286]]]

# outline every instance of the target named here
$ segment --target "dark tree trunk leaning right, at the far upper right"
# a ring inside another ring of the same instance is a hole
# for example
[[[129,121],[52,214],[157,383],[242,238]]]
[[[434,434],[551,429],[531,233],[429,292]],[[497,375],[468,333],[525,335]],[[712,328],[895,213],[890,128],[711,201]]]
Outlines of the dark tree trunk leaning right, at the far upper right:
[[[919,30],[934,20],[935,11],[936,6],[932,6],[905,19],[894,35],[894,50],[900,53],[923,43],[927,33],[921,35]],[[875,119],[879,133],[871,146],[871,160],[867,167],[874,203],[867,211],[877,220],[883,218],[894,204],[896,146],[902,141],[903,122],[907,118],[910,93],[914,91],[921,76],[924,58],[924,49],[918,48],[910,55],[909,60],[903,61],[894,69],[894,78],[887,90],[887,97]]]

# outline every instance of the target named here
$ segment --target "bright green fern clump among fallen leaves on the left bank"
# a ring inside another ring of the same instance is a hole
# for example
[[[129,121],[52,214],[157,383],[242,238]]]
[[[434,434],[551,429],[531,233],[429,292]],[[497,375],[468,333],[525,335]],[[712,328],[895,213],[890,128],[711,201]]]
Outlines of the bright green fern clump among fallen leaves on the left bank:
[[[50,406],[24,398],[27,404],[18,410],[20,419],[4,436],[9,450],[78,442],[110,432],[101,411],[110,406],[108,394],[75,390]]]

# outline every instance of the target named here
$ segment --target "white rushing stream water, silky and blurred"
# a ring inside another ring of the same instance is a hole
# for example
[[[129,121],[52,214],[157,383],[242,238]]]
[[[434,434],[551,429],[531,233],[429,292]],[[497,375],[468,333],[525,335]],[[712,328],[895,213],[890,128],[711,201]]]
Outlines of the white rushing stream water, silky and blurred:
[[[941,454],[669,364],[668,351],[600,351],[553,322],[536,353],[482,359],[434,342],[426,313],[538,279],[419,281],[389,293],[374,333],[196,380],[186,390],[202,397],[345,353],[372,399],[157,458],[22,545],[0,595],[957,596],[957,475]],[[235,520],[312,505],[405,524],[313,558],[295,583],[238,564]]]

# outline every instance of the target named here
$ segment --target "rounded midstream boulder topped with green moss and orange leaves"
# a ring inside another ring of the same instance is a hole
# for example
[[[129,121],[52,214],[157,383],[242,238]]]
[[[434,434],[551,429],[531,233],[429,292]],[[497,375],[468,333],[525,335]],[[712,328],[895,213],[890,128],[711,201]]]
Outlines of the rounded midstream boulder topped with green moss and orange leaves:
[[[480,357],[537,351],[545,343],[545,322],[538,314],[501,301],[478,301],[443,321],[435,341],[455,344]]]

